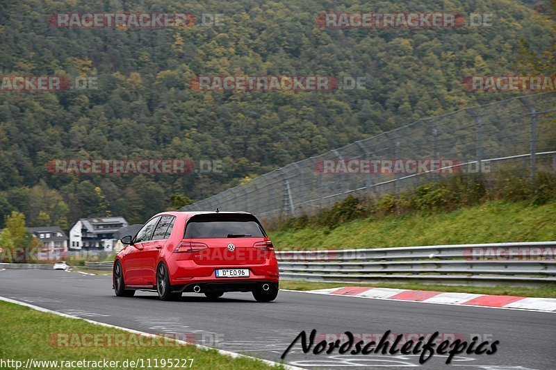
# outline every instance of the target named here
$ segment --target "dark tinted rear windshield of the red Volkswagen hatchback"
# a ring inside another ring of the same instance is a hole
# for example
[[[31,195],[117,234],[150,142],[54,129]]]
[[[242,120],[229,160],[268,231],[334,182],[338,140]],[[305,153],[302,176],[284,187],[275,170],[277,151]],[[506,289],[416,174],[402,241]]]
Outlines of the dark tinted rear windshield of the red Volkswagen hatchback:
[[[216,237],[265,237],[253,215],[197,215],[186,224],[186,239]]]

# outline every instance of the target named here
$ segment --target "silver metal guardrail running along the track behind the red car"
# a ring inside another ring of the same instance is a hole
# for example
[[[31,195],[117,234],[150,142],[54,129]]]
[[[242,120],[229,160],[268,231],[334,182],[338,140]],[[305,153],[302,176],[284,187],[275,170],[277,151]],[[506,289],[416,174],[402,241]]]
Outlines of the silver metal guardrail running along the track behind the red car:
[[[284,280],[536,285],[556,282],[555,253],[556,242],[523,242],[277,251],[276,255]],[[112,266],[113,262],[85,262],[88,269]]]

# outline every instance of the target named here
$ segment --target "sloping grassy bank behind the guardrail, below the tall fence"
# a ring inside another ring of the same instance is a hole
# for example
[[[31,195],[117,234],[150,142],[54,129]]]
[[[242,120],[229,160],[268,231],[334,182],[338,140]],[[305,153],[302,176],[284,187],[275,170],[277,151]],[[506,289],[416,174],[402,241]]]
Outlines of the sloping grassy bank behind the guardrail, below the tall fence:
[[[369,217],[326,228],[288,228],[270,232],[278,251],[542,242],[556,240],[556,202],[491,201],[434,214]]]

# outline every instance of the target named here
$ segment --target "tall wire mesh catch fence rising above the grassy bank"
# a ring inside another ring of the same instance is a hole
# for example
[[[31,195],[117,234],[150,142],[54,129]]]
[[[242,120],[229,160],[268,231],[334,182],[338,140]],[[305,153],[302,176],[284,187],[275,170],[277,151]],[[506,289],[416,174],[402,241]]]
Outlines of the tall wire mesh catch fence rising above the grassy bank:
[[[349,195],[399,194],[457,174],[480,174],[488,181],[496,171],[531,178],[538,171],[556,171],[556,92],[420,119],[291,163],[181,210],[218,207],[262,219],[297,217]]]

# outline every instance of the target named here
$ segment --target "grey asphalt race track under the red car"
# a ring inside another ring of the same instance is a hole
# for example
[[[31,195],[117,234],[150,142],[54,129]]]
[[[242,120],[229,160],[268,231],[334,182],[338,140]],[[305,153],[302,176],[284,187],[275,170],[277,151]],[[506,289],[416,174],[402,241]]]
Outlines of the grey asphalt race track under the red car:
[[[499,340],[494,355],[457,355],[452,364],[434,355],[426,369],[555,369],[556,314],[522,310],[435,305],[404,301],[280,292],[272,303],[256,303],[251,294],[227,293],[209,300],[183,294],[181,301],[159,301],[137,292],[118,298],[109,276],[85,276],[48,270],[0,271],[0,296],[116,326],[149,333],[193,333],[199,344],[279,361],[300,333],[354,335],[393,333],[482,335]],[[0,330],[1,331],[1,330]],[[320,338],[322,339],[322,337]],[[286,363],[316,369],[330,367],[418,367],[418,355],[305,355],[296,344]]]

